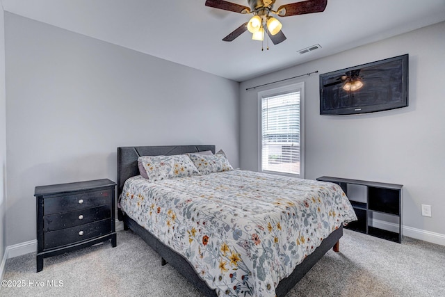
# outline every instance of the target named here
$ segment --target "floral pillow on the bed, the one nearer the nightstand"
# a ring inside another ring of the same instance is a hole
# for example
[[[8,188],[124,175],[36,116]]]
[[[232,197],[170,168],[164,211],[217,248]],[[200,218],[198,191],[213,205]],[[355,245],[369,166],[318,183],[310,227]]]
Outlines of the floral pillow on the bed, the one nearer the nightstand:
[[[150,181],[172,177],[189,177],[200,174],[191,159],[184,154],[173,156],[140,156],[138,158],[138,162],[139,161],[142,163],[145,172],[147,172],[147,178]]]

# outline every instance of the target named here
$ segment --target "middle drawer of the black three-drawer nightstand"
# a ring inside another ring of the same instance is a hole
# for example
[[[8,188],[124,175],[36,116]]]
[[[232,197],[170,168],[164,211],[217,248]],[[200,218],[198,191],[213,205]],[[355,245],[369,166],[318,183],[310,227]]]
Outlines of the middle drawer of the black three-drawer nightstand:
[[[111,205],[102,205],[90,209],[51,214],[43,217],[43,231],[55,231],[77,225],[84,225],[111,218]]]

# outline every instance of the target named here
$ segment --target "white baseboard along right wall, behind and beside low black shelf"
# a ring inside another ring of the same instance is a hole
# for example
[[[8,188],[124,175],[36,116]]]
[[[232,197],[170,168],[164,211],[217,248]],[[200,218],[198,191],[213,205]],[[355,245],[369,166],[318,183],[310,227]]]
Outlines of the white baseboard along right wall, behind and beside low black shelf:
[[[385,222],[384,220],[374,219],[373,227],[398,233],[397,224]],[[402,234],[403,236],[408,236],[414,239],[420,239],[423,241],[428,241],[430,243],[436,243],[441,246],[445,246],[445,234],[430,232],[409,226],[402,226]]]

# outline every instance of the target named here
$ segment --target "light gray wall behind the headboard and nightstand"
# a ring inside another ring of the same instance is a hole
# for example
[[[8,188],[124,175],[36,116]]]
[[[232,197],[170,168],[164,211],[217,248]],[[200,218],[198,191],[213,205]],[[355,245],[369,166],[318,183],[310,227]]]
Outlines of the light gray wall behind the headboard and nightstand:
[[[35,186],[116,180],[118,146],[214,144],[239,165],[238,83],[10,13],[5,21],[8,246],[35,239]]]

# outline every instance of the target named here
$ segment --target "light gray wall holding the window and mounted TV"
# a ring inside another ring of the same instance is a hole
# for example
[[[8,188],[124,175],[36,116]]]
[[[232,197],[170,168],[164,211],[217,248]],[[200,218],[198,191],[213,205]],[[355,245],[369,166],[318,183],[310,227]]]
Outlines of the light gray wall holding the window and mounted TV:
[[[410,106],[403,109],[321,116],[318,74],[293,80],[305,81],[306,178],[329,175],[403,184],[405,230],[436,232],[445,239],[444,33],[442,22],[241,83],[241,168],[258,167],[257,91],[264,90],[246,88],[410,54]],[[432,218],[421,216],[421,204],[432,206]]]

